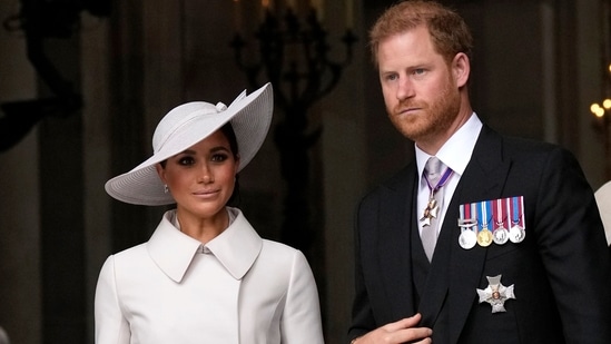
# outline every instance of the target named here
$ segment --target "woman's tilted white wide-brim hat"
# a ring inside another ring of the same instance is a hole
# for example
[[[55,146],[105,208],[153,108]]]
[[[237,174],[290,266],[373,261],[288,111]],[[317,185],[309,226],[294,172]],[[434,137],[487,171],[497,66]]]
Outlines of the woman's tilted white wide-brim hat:
[[[243,91],[230,105],[216,106],[193,101],[171,109],[157,125],[152,135],[152,156],[132,170],[105,185],[108,195],[137,205],[168,205],[175,200],[166,193],[155,165],[207,138],[225,124],[231,122],[239,150],[242,170],[263,145],[274,111],[272,83],[246,96]]]

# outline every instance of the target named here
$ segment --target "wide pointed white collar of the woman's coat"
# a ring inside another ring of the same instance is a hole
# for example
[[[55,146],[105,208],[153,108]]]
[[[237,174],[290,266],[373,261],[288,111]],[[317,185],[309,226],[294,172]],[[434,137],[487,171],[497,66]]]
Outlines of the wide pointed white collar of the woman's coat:
[[[242,279],[255,263],[263,239],[237,208],[227,207],[234,220],[213,240],[203,245],[173,225],[176,210],[164,214],[147,243],[151,259],[173,281],[183,281],[196,254],[214,254],[227,272]]]

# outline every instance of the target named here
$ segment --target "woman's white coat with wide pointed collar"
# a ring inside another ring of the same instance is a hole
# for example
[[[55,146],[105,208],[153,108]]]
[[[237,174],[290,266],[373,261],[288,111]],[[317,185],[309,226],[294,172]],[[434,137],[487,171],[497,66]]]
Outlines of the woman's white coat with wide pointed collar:
[[[203,245],[167,212],[150,239],[108,257],[95,299],[97,344],[324,343],[305,256],[262,239],[237,208]]]

